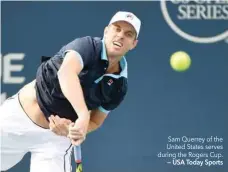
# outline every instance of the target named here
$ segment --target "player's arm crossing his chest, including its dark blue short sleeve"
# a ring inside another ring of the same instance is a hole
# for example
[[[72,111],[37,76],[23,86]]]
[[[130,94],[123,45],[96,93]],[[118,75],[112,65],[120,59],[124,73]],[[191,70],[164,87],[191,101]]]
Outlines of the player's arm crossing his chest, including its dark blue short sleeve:
[[[91,63],[93,58],[91,44],[91,39],[88,37],[79,38],[67,44],[63,54],[63,62],[58,71],[62,93],[78,115],[73,127],[81,134],[81,137],[79,140],[72,140],[72,143],[77,145],[84,140],[90,120],[78,75],[84,66],[89,66]]]

